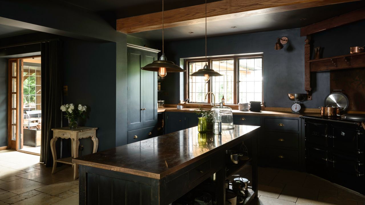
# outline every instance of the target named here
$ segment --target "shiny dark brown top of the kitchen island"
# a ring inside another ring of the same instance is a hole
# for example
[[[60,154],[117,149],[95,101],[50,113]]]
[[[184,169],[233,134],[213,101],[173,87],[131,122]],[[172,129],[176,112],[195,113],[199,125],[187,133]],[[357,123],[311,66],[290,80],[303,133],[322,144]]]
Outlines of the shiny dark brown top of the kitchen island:
[[[229,149],[258,126],[234,125],[221,135],[201,134],[197,127],[142,140],[73,159],[79,165],[161,179],[223,149]]]

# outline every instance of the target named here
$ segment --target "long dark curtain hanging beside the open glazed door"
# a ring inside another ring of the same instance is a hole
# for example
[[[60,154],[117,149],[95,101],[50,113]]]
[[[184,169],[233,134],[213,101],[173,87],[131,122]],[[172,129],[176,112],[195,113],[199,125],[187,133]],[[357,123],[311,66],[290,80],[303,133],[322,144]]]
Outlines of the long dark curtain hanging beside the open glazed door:
[[[59,40],[41,44],[42,80],[42,138],[41,162],[53,165],[50,140],[52,128],[61,127],[62,113],[62,42]],[[57,149],[59,150],[59,149]]]

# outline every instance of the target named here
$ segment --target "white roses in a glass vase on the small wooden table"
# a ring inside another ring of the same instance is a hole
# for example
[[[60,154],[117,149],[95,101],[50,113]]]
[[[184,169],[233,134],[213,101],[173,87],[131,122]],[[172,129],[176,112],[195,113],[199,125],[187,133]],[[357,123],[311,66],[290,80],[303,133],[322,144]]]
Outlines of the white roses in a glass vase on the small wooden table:
[[[77,118],[78,117],[82,117],[82,118],[86,117],[87,107],[82,106],[81,104],[78,104],[77,109],[75,109],[75,105],[72,103],[66,104],[66,105],[61,105],[60,109],[63,112],[66,112],[65,117],[68,118],[68,120],[69,120],[70,129],[77,128]]]

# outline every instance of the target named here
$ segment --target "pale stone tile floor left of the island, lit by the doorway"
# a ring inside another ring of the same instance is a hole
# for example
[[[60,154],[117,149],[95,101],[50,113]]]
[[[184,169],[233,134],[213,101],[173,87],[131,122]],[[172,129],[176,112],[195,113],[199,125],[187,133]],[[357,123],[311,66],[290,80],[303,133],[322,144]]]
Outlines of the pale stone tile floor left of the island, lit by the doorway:
[[[0,151],[0,205],[76,205],[78,180],[72,167],[64,165],[51,174],[52,167],[39,163],[39,156]]]

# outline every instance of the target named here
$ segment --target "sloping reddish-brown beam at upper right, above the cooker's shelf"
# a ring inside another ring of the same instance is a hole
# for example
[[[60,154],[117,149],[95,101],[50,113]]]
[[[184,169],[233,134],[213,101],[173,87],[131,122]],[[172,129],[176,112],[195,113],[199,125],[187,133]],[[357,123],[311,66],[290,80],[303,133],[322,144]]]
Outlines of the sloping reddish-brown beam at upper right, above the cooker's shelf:
[[[300,29],[300,36],[314,34],[319,31],[342,26],[362,19],[365,19],[365,8],[303,27]]]

